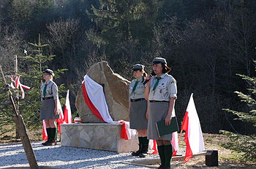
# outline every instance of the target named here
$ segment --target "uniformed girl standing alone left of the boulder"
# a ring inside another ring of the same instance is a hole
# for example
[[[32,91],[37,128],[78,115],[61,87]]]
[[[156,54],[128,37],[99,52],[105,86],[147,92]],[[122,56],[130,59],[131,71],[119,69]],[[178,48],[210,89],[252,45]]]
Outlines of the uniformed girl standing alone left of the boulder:
[[[40,119],[45,119],[46,130],[48,134],[48,140],[42,143],[44,146],[56,145],[56,122],[55,119],[59,119],[57,101],[58,87],[53,82],[54,73],[50,69],[43,71],[45,82],[41,86],[41,111]]]

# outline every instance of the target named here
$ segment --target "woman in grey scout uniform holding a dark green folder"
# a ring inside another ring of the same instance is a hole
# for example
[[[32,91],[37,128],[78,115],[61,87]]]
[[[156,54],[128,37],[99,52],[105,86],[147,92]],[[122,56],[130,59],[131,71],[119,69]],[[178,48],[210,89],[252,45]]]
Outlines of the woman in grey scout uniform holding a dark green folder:
[[[165,125],[170,125],[174,103],[177,98],[176,79],[167,74],[170,68],[167,67],[164,58],[154,58],[153,71],[156,74],[146,84],[145,98],[148,100],[148,139],[157,140],[157,149],[161,160],[159,168],[170,168],[173,155],[173,145],[170,141],[172,134],[159,137],[156,122],[165,119]]]

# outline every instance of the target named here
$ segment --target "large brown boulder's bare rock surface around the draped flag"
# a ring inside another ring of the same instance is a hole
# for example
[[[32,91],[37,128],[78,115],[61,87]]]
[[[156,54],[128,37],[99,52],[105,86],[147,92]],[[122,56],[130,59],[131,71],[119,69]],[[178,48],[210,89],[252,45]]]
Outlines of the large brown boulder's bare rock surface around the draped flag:
[[[128,93],[130,82],[119,74],[115,74],[106,61],[95,63],[89,68],[87,75],[95,82],[103,85],[108,111],[112,119],[114,121],[121,119],[129,121]],[[83,99],[82,86],[78,90],[75,106],[79,111],[82,122],[102,122],[92,114],[86,105]]]

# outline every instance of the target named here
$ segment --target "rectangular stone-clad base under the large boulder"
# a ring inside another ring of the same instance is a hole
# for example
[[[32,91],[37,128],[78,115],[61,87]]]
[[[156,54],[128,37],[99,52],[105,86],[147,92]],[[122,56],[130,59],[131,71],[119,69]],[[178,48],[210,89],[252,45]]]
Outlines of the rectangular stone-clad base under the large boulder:
[[[75,146],[112,152],[138,150],[138,134],[130,140],[120,138],[120,123],[61,124],[61,146]]]

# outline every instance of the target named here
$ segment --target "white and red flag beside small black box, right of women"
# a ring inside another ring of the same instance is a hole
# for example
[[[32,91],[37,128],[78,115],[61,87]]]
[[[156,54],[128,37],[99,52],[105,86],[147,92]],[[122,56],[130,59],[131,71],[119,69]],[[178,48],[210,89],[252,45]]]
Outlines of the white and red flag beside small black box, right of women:
[[[181,130],[186,131],[184,141],[187,144],[187,148],[184,161],[187,162],[192,158],[193,154],[204,151],[203,133],[197,116],[197,110],[195,109],[193,93],[189,99]]]

